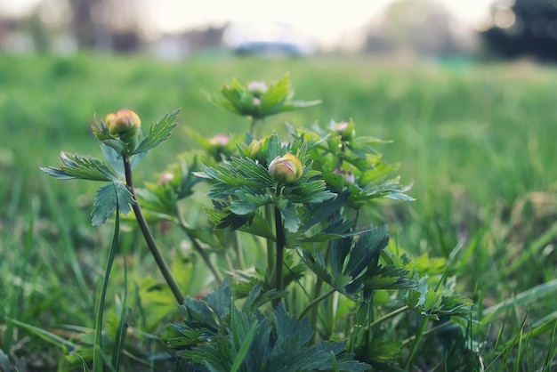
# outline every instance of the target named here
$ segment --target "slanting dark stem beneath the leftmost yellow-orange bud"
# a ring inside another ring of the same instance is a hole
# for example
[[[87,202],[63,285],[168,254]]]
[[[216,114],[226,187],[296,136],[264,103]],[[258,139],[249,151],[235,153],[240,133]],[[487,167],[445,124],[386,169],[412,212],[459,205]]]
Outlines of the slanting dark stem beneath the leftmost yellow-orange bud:
[[[141,206],[139,205],[137,196],[135,195],[135,189],[133,188],[132,162],[130,161],[130,158],[126,156],[124,156],[124,171],[125,171],[125,183],[127,184],[128,189],[132,193],[133,200],[135,200],[135,203],[132,206],[133,213],[135,214],[135,219],[139,224],[141,233],[143,234],[143,238],[147,243],[147,247],[149,247],[149,251],[151,252],[151,255],[153,255],[153,258],[157,263],[158,270],[160,270],[160,272],[163,274],[163,277],[165,277],[166,283],[168,284],[168,287],[170,287],[170,290],[172,291],[174,298],[179,304],[182,304],[184,300],[182,292],[180,291],[180,288],[174,281],[172,273],[170,272],[168,266],[165,263],[165,259],[160,254],[160,251],[158,250],[157,247],[157,243],[155,243],[155,239],[153,239],[153,234],[149,230],[149,226],[147,225],[147,221],[145,220],[145,216],[143,215],[143,212],[141,212]]]

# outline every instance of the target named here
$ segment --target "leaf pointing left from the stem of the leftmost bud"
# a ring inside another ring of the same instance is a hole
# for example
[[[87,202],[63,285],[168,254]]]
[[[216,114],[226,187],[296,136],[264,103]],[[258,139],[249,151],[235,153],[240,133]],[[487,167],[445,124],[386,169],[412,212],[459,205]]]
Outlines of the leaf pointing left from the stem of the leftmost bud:
[[[48,166],[40,169],[45,174],[59,180],[79,179],[106,182],[117,179],[117,175],[101,160],[66,152],[60,154],[60,168]]]

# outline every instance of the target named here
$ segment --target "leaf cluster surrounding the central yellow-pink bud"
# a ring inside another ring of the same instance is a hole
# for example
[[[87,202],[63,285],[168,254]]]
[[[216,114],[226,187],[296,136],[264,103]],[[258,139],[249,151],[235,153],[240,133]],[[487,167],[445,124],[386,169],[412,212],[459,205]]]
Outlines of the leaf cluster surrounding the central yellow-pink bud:
[[[217,228],[240,229],[248,224],[248,230],[255,235],[268,237],[269,230],[258,226],[268,225],[262,223],[265,219],[262,207],[274,206],[280,211],[285,228],[295,233],[303,229],[303,208],[335,198],[319,173],[311,170],[303,142],[283,144],[275,133],[265,140],[264,148],[263,162],[251,158],[244,150],[222,164],[201,166],[203,172],[198,175],[212,181],[207,196],[213,198],[214,208],[206,212]],[[281,185],[270,177],[268,164],[288,152],[302,160],[303,176],[296,182]]]

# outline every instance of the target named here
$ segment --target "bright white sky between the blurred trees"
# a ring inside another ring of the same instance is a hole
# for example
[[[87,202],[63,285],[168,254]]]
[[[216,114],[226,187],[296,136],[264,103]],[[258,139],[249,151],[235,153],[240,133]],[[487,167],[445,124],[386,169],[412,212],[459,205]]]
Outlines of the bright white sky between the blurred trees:
[[[335,44],[351,30],[379,18],[393,0],[136,0],[150,27],[176,32],[226,21],[284,21],[320,44]],[[40,0],[0,0],[0,11],[25,12]],[[488,17],[492,0],[437,0],[472,27]]]

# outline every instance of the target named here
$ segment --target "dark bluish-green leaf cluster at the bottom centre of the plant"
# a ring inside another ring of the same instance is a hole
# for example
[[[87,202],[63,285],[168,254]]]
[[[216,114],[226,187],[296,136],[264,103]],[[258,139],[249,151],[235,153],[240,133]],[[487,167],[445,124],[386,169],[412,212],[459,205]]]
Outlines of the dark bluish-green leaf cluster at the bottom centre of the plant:
[[[184,323],[174,325],[180,336],[168,342],[190,360],[182,363],[181,369],[287,372],[369,368],[344,352],[345,342],[311,344],[313,332],[308,319],[291,317],[283,305],[264,316],[258,308],[275,295],[256,286],[241,310],[234,304],[228,285],[204,300],[188,298],[181,306]]]

